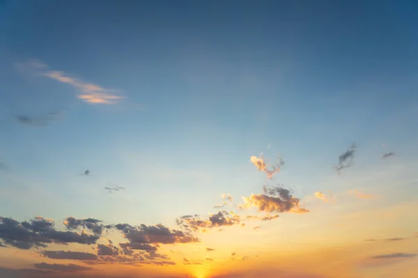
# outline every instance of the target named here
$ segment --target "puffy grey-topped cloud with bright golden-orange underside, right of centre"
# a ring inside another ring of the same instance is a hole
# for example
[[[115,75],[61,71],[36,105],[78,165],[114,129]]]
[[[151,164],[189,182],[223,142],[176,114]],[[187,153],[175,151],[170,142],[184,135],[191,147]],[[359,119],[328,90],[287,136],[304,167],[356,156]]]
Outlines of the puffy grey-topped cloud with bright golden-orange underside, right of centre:
[[[242,197],[244,204],[238,207],[245,209],[255,206],[258,211],[265,211],[267,213],[307,213],[307,209],[300,207],[300,199],[293,197],[290,190],[273,187],[263,188],[264,194],[251,194],[248,198]]]

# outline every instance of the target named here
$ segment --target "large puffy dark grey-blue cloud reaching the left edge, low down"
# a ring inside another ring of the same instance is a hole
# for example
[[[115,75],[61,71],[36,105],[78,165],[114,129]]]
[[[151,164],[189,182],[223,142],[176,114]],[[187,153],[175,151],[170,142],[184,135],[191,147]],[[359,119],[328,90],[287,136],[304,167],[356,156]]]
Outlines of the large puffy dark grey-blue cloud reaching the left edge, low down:
[[[48,243],[93,244],[99,236],[84,232],[56,231],[54,220],[37,217],[30,222],[17,222],[12,218],[0,217],[0,239],[3,244],[19,249],[47,247]]]

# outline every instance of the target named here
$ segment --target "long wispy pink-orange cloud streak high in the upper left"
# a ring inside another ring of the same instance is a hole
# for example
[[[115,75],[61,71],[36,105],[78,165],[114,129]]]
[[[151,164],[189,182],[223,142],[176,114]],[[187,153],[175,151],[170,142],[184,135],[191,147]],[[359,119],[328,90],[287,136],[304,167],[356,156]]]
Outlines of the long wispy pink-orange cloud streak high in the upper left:
[[[89,104],[116,104],[125,97],[116,95],[116,90],[103,88],[94,83],[88,83],[69,76],[64,72],[49,70],[49,67],[40,60],[29,60],[27,63],[20,64],[23,70],[31,70],[40,76],[45,76],[60,83],[71,85],[78,91],[77,98]]]

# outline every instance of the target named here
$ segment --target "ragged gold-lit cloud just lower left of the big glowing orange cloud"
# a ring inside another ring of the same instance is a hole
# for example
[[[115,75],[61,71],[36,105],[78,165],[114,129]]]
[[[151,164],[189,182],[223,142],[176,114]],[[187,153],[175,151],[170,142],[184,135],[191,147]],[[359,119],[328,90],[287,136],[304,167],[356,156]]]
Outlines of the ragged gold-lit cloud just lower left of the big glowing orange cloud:
[[[203,231],[204,228],[210,229],[213,227],[232,226],[240,224],[241,218],[233,212],[219,211],[215,214],[210,214],[207,220],[201,220],[199,215],[184,215],[176,219],[176,223],[187,229],[187,231]]]

